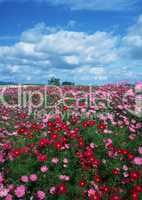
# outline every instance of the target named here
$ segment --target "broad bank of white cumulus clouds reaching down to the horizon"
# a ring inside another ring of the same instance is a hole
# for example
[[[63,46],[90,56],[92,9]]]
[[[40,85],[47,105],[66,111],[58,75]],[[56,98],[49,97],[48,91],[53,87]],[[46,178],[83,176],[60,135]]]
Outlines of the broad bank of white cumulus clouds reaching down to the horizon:
[[[124,37],[37,24],[13,46],[0,46],[0,78],[33,83],[47,83],[51,76],[77,83],[140,79],[141,24],[140,16]]]

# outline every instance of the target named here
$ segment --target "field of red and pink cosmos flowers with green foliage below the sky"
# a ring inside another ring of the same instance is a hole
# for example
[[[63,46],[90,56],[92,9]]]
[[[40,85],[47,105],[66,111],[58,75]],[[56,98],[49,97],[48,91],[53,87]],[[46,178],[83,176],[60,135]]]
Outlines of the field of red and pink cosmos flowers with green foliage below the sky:
[[[1,87],[0,199],[142,200],[141,89]]]

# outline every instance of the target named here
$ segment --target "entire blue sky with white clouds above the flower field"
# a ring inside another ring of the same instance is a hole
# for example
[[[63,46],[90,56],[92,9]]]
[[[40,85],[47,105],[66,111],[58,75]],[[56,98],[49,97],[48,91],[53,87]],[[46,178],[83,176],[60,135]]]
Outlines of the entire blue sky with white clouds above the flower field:
[[[0,0],[0,81],[142,81],[141,0]]]

